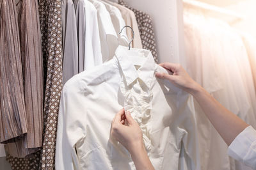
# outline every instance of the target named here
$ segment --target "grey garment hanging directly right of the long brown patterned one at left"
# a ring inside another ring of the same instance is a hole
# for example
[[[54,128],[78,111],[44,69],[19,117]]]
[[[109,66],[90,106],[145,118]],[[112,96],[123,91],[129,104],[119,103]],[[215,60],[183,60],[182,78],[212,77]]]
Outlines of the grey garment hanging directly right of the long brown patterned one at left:
[[[78,73],[76,13],[72,0],[61,0],[63,83]]]

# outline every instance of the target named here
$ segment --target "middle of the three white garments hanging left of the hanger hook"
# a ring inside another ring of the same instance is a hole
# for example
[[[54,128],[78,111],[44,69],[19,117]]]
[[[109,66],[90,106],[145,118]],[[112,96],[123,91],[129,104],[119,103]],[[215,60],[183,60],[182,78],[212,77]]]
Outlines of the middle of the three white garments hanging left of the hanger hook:
[[[115,55],[115,50],[118,46],[118,36],[106,6],[100,1],[89,0],[97,9],[97,17],[100,33],[100,47],[102,61],[108,61]]]

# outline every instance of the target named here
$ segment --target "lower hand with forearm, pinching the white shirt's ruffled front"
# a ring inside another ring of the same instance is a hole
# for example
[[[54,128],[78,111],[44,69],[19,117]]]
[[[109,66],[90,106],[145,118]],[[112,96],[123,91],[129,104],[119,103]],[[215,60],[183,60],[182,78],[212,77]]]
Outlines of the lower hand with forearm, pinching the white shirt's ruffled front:
[[[126,124],[127,123],[127,124]],[[119,111],[112,121],[111,136],[130,153],[137,170],[153,170],[143,143],[142,132],[130,112]]]

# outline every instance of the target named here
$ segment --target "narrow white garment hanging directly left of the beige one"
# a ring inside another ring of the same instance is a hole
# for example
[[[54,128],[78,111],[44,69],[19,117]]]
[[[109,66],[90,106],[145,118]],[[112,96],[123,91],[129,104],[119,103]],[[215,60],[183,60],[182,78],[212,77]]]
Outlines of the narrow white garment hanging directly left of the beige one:
[[[122,33],[120,33],[121,29],[125,26],[124,19],[122,18],[122,13],[115,6],[112,6],[111,4],[108,4],[104,1],[100,2],[105,4],[106,9],[110,14],[112,24],[116,30],[116,35],[118,35],[118,45],[128,46],[129,41],[127,38],[126,30],[124,29]]]

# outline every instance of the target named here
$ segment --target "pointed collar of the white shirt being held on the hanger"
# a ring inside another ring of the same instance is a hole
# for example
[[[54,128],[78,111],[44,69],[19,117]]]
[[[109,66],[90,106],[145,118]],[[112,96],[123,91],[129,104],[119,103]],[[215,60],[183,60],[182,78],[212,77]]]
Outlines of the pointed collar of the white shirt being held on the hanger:
[[[156,63],[149,50],[144,49],[131,49],[119,45],[116,49],[115,56],[118,60],[122,73],[124,74],[127,86],[129,86],[136,79],[140,78],[148,88],[150,88]],[[145,63],[140,66],[138,70],[132,63],[132,58],[145,58]]]

